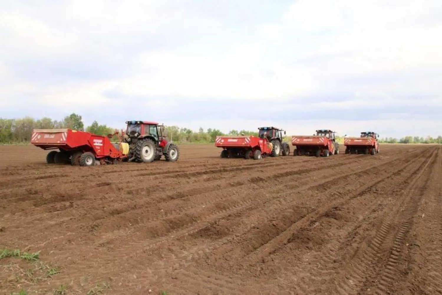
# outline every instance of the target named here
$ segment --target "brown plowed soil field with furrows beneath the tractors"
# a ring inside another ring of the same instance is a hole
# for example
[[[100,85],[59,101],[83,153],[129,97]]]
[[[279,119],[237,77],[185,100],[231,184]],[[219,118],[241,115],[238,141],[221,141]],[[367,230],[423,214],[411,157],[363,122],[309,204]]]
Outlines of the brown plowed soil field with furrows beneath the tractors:
[[[180,148],[176,163],[72,167],[0,147],[0,251],[40,251],[0,260],[0,293],[442,293],[442,147]]]

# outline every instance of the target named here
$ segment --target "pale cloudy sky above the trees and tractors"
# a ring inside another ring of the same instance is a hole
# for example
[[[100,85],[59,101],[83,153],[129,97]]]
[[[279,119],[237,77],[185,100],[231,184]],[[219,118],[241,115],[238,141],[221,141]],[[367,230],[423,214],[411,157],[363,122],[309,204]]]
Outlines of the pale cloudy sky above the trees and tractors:
[[[440,0],[0,2],[0,117],[442,134]]]

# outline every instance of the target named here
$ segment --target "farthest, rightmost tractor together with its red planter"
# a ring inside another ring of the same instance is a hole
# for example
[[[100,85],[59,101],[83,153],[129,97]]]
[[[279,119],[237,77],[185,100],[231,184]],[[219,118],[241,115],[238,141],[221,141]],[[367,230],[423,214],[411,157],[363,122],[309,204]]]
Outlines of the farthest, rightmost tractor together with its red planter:
[[[379,153],[378,138],[379,135],[372,131],[361,132],[360,137],[346,137],[344,139],[345,153],[376,155]]]

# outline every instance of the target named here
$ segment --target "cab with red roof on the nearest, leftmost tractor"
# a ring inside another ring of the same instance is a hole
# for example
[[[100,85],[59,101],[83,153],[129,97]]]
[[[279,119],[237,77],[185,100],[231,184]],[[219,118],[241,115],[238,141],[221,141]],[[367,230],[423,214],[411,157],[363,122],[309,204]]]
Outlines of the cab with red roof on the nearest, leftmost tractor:
[[[126,136],[127,141],[136,142],[138,139],[147,136],[153,137],[155,141],[161,141],[165,137],[164,125],[149,121],[126,121]]]

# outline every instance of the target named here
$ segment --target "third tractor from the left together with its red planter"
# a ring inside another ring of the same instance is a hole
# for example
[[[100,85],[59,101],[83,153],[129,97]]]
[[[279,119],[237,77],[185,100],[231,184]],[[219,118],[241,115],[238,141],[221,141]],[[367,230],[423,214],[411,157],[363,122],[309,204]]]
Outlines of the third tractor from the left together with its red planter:
[[[292,136],[292,145],[296,147],[293,155],[315,155],[316,157],[339,154],[339,143],[335,132],[328,129],[316,130],[312,136]]]

